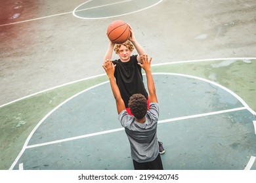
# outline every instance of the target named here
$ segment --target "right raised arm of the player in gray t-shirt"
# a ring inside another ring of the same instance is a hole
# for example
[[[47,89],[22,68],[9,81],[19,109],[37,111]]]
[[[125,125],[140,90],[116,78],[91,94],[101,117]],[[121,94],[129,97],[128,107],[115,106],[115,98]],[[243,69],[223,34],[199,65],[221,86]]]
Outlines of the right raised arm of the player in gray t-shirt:
[[[149,101],[150,103],[152,102],[158,103],[158,97],[156,97],[156,88],[155,88],[153,76],[151,73],[151,67],[150,67],[152,58],[148,59],[148,55],[146,54],[143,54],[143,56],[140,56],[140,58],[142,59],[142,64],[141,63],[138,63],[138,64],[140,65],[140,67],[142,67],[142,69],[144,69],[146,73],[146,82],[148,85]]]

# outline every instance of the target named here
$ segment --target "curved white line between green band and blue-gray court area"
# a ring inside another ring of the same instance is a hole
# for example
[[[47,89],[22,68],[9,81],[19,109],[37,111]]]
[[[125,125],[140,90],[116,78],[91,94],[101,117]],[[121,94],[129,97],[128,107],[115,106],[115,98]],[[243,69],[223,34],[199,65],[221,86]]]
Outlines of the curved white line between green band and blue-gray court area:
[[[145,74],[144,74],[145,75]],[[152,75],[176,75],[176,76],[184,76],[184,77],[188,77],[188,78],[195,78],[198,80],[202,80],[203,82],[208,82],[211,83],[215,86],[218,86],[219,88],[222,88],[223,90],[225,90],[226,92],[230,93],[231,95],[233,95],[234,97],[236,97],[236,99],[238,99],[238,101],[240,101],[242,103],[242,105],[244,105],[244,107],[242,107],[243,109],[247,109],[249,110],[249,112],[251,112],[253,114],[253,110],[251,108],[249,108],[249,106],[245,103],[245,101],[239,97],[238,95],[236,95],[236,93],[232,92],[231,90],[229,90],[228,88],[225,88],[224,86],[222,86],[221,84],[217,84],[216,82],[213,82],[211,80],[207,80],[205,78],[200,78],[198,76],[191,76],[191,75],[183,75],[183,74],[177,74],[177,73],[152,73]],[[33,133],[35,133],[35,131],[37,130],[37,128],[39,127],[39,125],[41,125],[46,118],[48,118],[51,114],[53,114],[53,112],[55,110],[57,110],[59,107],[61,107],[62,105],[64,105],[65,103],[67,103],[68,101],[70,101],[71,99],[74,99],[74,97],[77,97],[78,95],[80,95],[81,93],[87,92],[88,90],[91,90],[93,88],[96,88],[98,86],[101,86],[103,84],[108,83],[108,81],[106,82],[101,82],[100,84],[96,84],[95,86],[91,86],[81,92],[76,93],[75,95],[73,95],[72,97],[66,99],[65,101],[63,101],[62,103],[60,103],[58,106],[54,107],[53,110],[51,110],[47,115],[45,115],[45,117],[43,117],[39,123],[37,125],[35,125],[34,129],[32,130],[32,132],[30,133],[30,135],[28,135],[28,138],[26,139],[24,146],[22,147],[22,150],[20,151],[20,153],[18,154],[18,156],[16,157],[16,159],[14,159],[14,162],[12,163],[10,169],[13,169],[13,167],[16,165],[16,163],[18,162],[18,160],[20,159],[20,157],[22,156],[22,154],[24,153],[24,151],[27,149],[28,147],[28,142],[30,141]],[[255,115],[255,114],[254,114]],[[119,128],[119,130],[121,130],[122,128]]]

